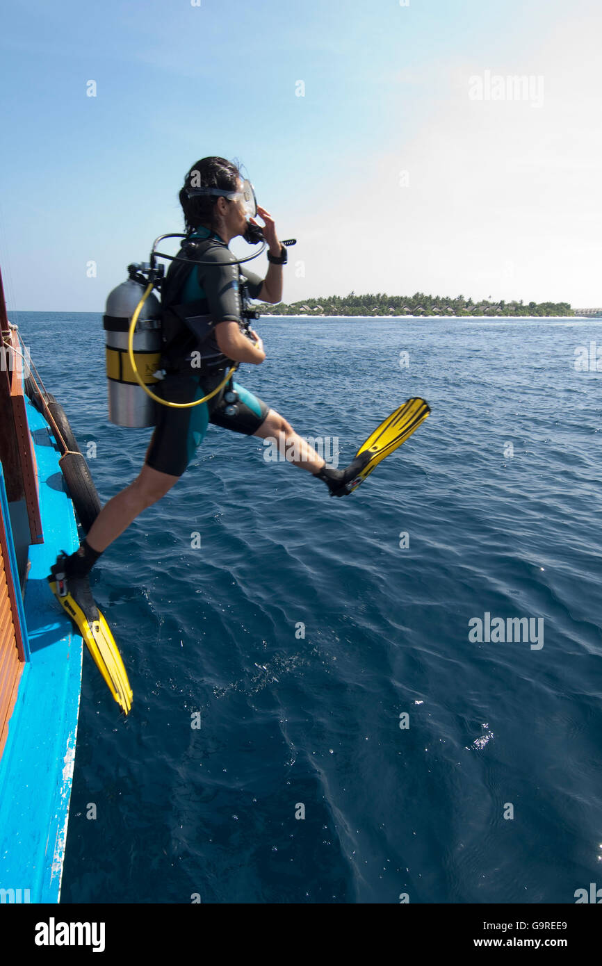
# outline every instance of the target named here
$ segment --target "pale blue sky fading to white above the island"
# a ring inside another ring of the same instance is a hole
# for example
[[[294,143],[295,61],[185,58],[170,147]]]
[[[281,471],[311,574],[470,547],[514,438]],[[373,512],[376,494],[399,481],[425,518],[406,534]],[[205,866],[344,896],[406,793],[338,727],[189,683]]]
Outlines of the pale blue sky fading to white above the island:
[[[242,162],[298,240],[286,302],[598,307],[601,37],[599,0],[5,5],[9,310],[103,311],[129,263],[183,230],[178,192],[209,155]]]

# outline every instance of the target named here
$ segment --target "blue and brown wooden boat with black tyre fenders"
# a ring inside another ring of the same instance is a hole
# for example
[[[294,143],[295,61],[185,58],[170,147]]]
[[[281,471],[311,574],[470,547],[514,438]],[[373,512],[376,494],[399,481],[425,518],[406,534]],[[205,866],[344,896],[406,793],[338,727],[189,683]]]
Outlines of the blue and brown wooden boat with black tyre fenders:
[[[0,902],[55,903],[83,647],[46,578],[79,546],[76,509],[90,526],[100,502],[64,411],[31,373],[1,274],[0,328]]]

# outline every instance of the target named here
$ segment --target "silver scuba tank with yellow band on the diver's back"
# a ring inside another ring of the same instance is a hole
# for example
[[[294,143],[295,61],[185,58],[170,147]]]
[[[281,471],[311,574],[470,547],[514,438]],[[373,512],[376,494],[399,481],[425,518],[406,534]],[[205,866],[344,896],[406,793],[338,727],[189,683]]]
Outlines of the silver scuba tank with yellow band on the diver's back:
[[[117,426],[142,429],[155,425],[155,403],[136,382],[128,353],[128,333],[136,305],[144,295],[146,284],[140,271],[147,265],[130,265],[129,279],[118,285],[106,299],[102,325],[106,332],[106,378],[108,383],[108,417]],[[158,379],[161,353],[161,306],[154,293],[146,298],[133,334],[136,369],[145,385]]]

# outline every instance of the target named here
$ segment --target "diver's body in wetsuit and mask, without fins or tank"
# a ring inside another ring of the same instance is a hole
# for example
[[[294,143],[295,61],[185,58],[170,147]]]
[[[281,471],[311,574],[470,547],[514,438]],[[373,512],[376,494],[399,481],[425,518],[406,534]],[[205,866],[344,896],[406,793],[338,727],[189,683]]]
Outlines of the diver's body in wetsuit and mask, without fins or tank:
[[[282,266],[286,264],[287,253],[276,237],[272,215],[264,208],[256,208],[252,188],[248,186],[243,192],[243,187],[235,164],[223,157],[204,157],[192,166],[180,191],[186,241],[206,241],[200,249],[203,262],[214,264],[195,268],[176,258],[161,285],[161,305],[166,309],[174,304],[200,302],[193,308],[197,315],[210,317],[207,324],[211,331],[198,347],[202,356],[200,368],[193,367],[197,361],[192,356],[197,351],[196,340],[186,326],[181,326],[173,335],[164,335],[161,362],[165,378],[159,384],[158,394],[170,402],[192,402],[211,392],[233,361],[260,365],[266,358],[257,332],[244,329],[239,266],[232,266],[234,256],[228,244],[233,238],[244,236],[249,222],[257,224],[255,213],[261,216],[265,222],[263,235],[269,245],[268,273],[262,279],[244,266],[240,270],[248,296],[272,303],[282,298]],[[171,490],[203,440],[210,422],[234,433],[277,440],[280,452],[284,454],[288,450],[296,457],[288,462],[323,480],[333,496],[346,495],[345,483],[358,475],[367,462],[366,457],[360,457],[346,469],[327,467],[326,461],[279,412],[270,409],[241,384],[232,384],[230,391],[237,394],[238,405],[235,414],[228,414],[227,391],[224,386],[213,399],[193,409],[157,406],[157,424],[144,466],[125,490],[102,507],[80,550],[65,561],[67,578],[86,576],[100,554],[138,514]]]

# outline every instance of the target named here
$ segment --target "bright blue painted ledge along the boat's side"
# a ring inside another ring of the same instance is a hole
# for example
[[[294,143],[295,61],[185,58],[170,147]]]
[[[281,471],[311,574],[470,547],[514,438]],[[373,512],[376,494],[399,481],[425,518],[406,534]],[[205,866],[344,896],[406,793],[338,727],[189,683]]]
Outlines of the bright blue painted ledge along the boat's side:
[[[0,900],[58,902],[82,639],[59,608],[46,577],[59,551],[71,553],[79,540],[54,438],[29,401],[27,418],[38,467],[44,542],[29,548],[24,609],[31,660],[21,674],[0,759]]]

